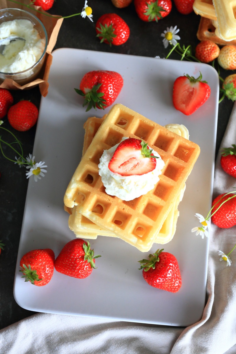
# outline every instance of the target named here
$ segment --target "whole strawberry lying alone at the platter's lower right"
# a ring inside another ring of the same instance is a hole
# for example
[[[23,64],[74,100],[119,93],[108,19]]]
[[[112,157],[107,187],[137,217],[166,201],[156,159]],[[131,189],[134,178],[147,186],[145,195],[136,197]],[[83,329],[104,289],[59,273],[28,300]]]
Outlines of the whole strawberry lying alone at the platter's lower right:
[[[171,253],[157,250],[149,255],[149,259],[142,259],[139,263],[143,278],[149,285],[169,292],[179,291],[182,278],[178,261]]]

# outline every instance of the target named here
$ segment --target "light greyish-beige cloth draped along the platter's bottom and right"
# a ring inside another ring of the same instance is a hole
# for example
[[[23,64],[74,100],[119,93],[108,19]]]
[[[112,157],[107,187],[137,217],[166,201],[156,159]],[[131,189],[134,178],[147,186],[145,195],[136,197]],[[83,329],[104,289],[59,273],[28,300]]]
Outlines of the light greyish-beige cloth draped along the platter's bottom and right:
[[[236,103],[220,149],[236,137]],[[215,163],[213,198],[235,190],[236,179]],[[197,211],[196,211],[197,212]],[[190,235],[191,237],[191,235]],[[0,331],[0,352],[7,354],[235,354],[236,249],[232,264],[220,262],[236,243],[235,227],[212,224],[209,240],[207,301],[202,318],[188,327],[171,327],[59,314],[38,313]],[[201,255],[199,255],[201,262]]]

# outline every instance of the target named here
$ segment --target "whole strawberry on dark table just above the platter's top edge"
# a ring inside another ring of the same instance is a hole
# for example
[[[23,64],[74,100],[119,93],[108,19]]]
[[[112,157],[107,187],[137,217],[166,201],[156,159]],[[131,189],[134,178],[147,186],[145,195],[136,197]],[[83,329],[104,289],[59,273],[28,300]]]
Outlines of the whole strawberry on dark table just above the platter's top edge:
[[[97,37],[110,46],[124,44],[130,34],[127,23],[116,13],[105,13],[96,23]]]

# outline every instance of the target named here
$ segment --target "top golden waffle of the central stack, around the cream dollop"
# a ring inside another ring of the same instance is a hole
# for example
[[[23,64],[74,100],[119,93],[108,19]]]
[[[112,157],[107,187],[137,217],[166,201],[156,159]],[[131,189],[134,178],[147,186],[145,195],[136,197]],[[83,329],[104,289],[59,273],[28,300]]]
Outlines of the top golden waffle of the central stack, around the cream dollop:
[[[105,193],[98,174],[104,149],[122,137],[143,138],[158,152],[165,166],[154,189],[131,201]],[[81,159],[64,196],[72,208],[102,229],[137,247],[149,251],[163,222],[184,188],[200,153],[197,144],[121,105],[114,105]]]

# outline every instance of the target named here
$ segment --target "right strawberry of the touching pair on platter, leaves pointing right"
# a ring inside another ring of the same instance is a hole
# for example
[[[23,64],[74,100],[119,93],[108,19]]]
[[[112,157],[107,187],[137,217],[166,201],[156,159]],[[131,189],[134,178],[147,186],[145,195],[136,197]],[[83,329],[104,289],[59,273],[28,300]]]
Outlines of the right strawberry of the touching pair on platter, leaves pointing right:
[[[83,279],[95,268],[95,258],[90,243],[82,239],[69,241],[57,256],[54,267],[57,272]]]

